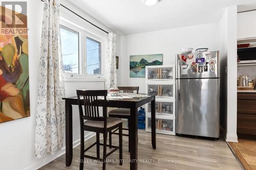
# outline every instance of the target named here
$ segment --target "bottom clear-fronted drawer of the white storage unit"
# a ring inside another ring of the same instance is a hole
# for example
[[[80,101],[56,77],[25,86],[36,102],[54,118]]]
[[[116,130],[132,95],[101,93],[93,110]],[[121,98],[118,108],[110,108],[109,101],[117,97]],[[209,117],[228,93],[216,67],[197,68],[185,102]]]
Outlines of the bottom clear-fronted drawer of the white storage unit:
[[[157,133],[175,134],[175,119],[156,118],[155,126]],[[151,118],[147,117],[147,130],[151,131],[151,128]]]

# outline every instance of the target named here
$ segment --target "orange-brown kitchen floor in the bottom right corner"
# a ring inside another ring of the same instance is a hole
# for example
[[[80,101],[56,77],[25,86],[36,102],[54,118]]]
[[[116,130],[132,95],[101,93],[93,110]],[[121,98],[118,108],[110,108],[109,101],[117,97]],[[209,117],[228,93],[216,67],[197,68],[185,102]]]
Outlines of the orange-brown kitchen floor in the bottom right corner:
[[[246,170],[256,170],[256,140],[238,139],[229,144]]]

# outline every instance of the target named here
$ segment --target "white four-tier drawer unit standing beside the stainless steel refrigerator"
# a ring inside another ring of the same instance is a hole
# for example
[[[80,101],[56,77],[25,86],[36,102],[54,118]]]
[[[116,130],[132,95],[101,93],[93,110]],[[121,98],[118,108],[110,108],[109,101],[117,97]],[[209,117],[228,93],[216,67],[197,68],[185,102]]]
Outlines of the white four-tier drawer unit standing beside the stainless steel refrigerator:
[[[176,134],[175,65],[146,66],[146,92],[156,96],[156,132]],[[151,132],[151,104],[146,106],[146,132]]]

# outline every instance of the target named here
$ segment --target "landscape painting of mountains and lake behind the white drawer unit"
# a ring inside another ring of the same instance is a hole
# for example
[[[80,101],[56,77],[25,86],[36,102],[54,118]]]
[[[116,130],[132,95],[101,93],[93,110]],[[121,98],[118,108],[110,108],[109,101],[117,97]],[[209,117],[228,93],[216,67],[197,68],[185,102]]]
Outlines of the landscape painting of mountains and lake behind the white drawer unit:
[[[147,65],[163,65],[163,54],[130,56],[130,78],[145,78]]]

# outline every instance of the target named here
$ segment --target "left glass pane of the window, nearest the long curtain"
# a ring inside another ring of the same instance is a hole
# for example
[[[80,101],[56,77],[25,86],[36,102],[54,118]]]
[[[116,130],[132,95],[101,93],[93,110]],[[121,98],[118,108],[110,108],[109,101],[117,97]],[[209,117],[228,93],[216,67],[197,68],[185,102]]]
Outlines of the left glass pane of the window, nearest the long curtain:
[[[79,33],[60,26],[63,71],[79,74]]]

